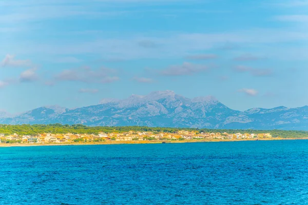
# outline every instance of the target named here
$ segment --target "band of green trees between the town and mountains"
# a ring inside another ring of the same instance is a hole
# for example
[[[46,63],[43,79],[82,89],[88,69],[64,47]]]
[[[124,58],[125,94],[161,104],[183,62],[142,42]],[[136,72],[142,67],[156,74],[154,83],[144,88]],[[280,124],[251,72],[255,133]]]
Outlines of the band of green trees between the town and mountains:
[[[151,127],[137,127],[137,126],[127,126],[127,127],[87,127],[84,125],[61,125],[61,124],[50,124],[50,125],[0,125],[0,133],[7,135],[18,134],[18,135],[37,135],[42,133],[52,133],[52,134],[98,134],[100,132],[112,133],[112,132],[153,132],[154,134],[165,132],[165,133],[177,133],[180,130],[194,131],[197,134],[201,132],[209,133],[270,133],[273,137],[283,137],[283,138],[302,138],[308,137],[308,132],[306,131],[284,131],[284,130],[215,130],[215,129],[193,129],[193,128],[151,128]],[[111,139],[112,140],[112,139]],[[149,139],[150,140],[150,139]]]

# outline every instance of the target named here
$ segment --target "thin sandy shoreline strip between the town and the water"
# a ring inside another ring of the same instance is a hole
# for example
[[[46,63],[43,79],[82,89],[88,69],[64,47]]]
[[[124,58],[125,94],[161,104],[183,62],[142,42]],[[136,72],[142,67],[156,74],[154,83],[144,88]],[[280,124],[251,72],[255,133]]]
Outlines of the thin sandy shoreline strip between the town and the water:
[[[41,146],[85,146],[85,145],[137,145],[137,144],[182,144],[200,142],[235,142],[235,141],[274,141],[274,140],[306,140],[308,138],[268,138],[268,139],[207,139],[207,140],[140,140],[140,141],[106,141],[106,142],[84,142],[84,143],[48,143],[48,144],[0,144],[0,148],[5,147],[41,147]]]

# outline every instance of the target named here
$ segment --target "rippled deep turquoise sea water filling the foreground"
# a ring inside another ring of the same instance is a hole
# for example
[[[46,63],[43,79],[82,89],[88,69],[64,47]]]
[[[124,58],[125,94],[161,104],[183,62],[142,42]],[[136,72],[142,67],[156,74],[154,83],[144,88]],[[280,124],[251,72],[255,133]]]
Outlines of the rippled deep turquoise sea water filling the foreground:
[[[0,148],[0,204],[308,204],[308,140]]]

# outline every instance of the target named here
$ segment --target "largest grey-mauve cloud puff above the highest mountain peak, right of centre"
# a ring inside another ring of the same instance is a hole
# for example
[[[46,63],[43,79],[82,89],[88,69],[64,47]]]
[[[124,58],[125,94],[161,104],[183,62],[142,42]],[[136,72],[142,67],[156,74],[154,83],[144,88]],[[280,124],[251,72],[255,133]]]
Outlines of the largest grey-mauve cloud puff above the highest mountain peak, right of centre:
[[[185,62],[182,65],[170,66],[160,71],[160,74],[165,76],[193,75],[200,72],[207,72],[210,70],[210,68],[210,66],[197,65]]]

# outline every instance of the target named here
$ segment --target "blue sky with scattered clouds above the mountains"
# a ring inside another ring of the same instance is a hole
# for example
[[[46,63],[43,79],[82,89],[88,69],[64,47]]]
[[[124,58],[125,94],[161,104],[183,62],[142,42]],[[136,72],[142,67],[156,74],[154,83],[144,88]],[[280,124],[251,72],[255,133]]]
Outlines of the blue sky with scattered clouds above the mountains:
[[[308,105],[307,0],[1,0],[0,110],[172,90]]]

